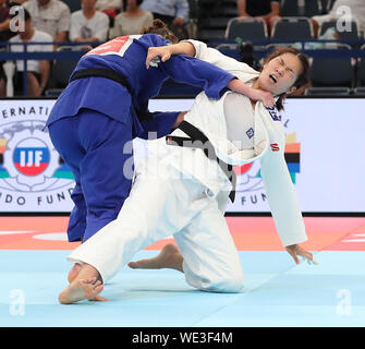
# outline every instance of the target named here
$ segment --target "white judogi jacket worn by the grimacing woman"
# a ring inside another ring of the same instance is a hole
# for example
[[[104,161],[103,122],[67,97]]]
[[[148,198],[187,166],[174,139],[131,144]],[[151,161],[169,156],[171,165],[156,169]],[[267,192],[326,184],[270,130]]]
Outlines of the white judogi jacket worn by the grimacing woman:
[[[259,72],[247,64],[229,58],[204,43],[188,40],[196,49],[196,58],[212,63],[242,82],[257,79]],[[254,149],[240,149],[227,139],[223,103],[231,92],[219,100],[209,99],[200,93],[185,115],[185,120],[198,128],[214,145],[217,156],[224,163],[242,166],[260,161],[261,178],[275,224],[284,246],[307,240],[294,185],[284,160],[285,136],[276,108],[267,109],[257,101],[254,111]],[[242,98],[247,98],[242,95]],[[238,110],[240,112],[240,110]],[[244,117],[244,116],[242,116]],[[173,135],[186,136],[181,130]],[[149,149],[158,154],[161,161],[175,167],[184,178],[194,178],[207,186],[207,194],[218,201],[226,210],[231,183],[217,161],[209,160],[200,149],[166,145],[165,140],[149,142]]]

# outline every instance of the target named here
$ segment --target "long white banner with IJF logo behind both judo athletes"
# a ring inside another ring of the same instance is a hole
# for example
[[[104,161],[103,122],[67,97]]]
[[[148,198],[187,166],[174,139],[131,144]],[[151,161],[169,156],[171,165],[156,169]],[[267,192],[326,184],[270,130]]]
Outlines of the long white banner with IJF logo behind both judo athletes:
[[[70,212],[72,172],[42,131],[52,99],[0,100],[0,212]],[[151,111],[188,110],[193,99],[154,99]],[[303,212],[365,212],[365,99],[288,99],[285,159]],[[146,155],[134,141],[135,163]],[[228,212],[269,212],[259,163],[235,169]]]

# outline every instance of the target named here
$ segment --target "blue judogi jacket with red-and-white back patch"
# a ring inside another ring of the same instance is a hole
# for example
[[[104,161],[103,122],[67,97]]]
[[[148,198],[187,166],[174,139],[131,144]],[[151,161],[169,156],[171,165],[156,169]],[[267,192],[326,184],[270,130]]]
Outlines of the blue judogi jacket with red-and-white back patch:
[[[182,55],[172,56],[158,67],[146,69],[146,55],[151,46],[166,46],[169,41],[156,34],[118,37],[87,52],[74,71],[89,68],[108,69],[123,75],[131,93],[120,83],[106,77],[86,77],[72,81],[54,104],[47,125],[77,115],[81,108],[99,111],[124,122],[133,120],[133,137],[146,139],[149,131],[157,137],[171,131],[179,112],[155,112],[151,121],[141,121],[135,110],[147,110],[149,98],[158,95],[163,82],[199,86],[210,98],[220,98],[232,74],[198,59]]]

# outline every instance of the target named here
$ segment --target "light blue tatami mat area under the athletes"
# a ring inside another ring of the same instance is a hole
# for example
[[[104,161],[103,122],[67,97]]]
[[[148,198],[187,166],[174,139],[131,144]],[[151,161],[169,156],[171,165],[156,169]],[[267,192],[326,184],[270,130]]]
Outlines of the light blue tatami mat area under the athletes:
[[[156,251],[141,251],[144,258]],[[69,251],[0,251],[0,326],[365,326],[365,254],[318,252],[295,265],[287,252],[240,252],[242,293],[190,287],[174,270],[123,268],[106,285],[108,302],[58,303]]]

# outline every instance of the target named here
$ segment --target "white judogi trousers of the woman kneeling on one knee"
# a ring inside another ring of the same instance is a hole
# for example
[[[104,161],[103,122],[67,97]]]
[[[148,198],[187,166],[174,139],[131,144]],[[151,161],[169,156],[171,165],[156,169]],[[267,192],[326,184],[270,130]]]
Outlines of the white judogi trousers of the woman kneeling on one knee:
[[[243,272],[223,213],[211,192],[155,156],[143,159],[118,218],[68,257],[109,280],[139,250],[173,236],[187,284],[207,291],[240,292]]]

